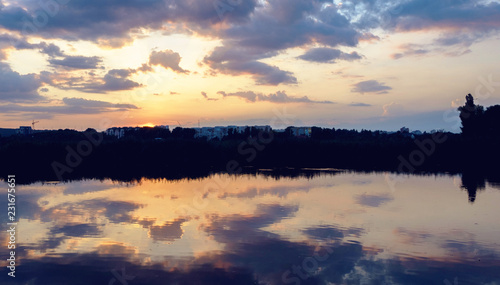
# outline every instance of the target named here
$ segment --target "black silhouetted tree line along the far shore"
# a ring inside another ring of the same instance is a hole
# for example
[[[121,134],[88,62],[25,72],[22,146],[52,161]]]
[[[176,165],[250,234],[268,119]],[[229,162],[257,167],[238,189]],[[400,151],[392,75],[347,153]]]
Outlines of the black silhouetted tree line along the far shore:
[[[412,173],[474,172],[479,173],[473,175],[479,180],[498,176],[500,106],[484,110],[469,94],[465,105],[458,110],[462,133],[439,134],[446,140],[436,144],[432,152],[425,152],[425,161],[413,165]],[[437,135],[411,135],[404,130],[386,133],[313,127],[311,137],[304,138],[294,137],[291,128],[270,133],[248,128],[244,133],[230,132],[222,140],[207,141],[195,138],[193,129],[177,127],[172,131],[131,129],[121,139],[100,133],[102,140],[98,145],[82,143],[92,134],[99,133],[93,129],[55,130],[2,137],[0,156],[4,163],[0,164],[0,173],[2,176],[15,173],[27,181],[79,178],[128,181],[141,177],[199,177],[213,172],[238,173],[259,168],[400,172],[407,171],[408,167],[401,168],[398,158],[411,158],[419,149],[419,143],[429,142]],[[69,153],[75,156],[78,151],[81,161],[76,163],[75,157],[70,157],[73,165],[66,163]],[[68,166],[62,168],[67,171],[58,176],[54,162]]]

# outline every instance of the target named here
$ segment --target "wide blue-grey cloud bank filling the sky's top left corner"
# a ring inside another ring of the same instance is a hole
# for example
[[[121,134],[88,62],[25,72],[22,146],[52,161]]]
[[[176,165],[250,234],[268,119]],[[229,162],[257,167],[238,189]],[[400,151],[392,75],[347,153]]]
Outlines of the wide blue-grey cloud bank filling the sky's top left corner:
[[[183,29],[209,31],[222,23],[243,22],[248,20],[258,1],[243,1],[224,17],[219,16],[212,1],[150,0],[147,5],[141,0],[40,3],[26,0],[0,7],[0,26],[43,38],[87,40],[120,47],[133,41],[134,33],[141,34],[139,28],[161,29],[166,22],[172,23],[173,32],[181,28],[175,27],[177,23],[188,24],[179,24]],[[50,3],[54,5],[49,7]],[[40,15],[47,19],[44,25],[38,24]]]

